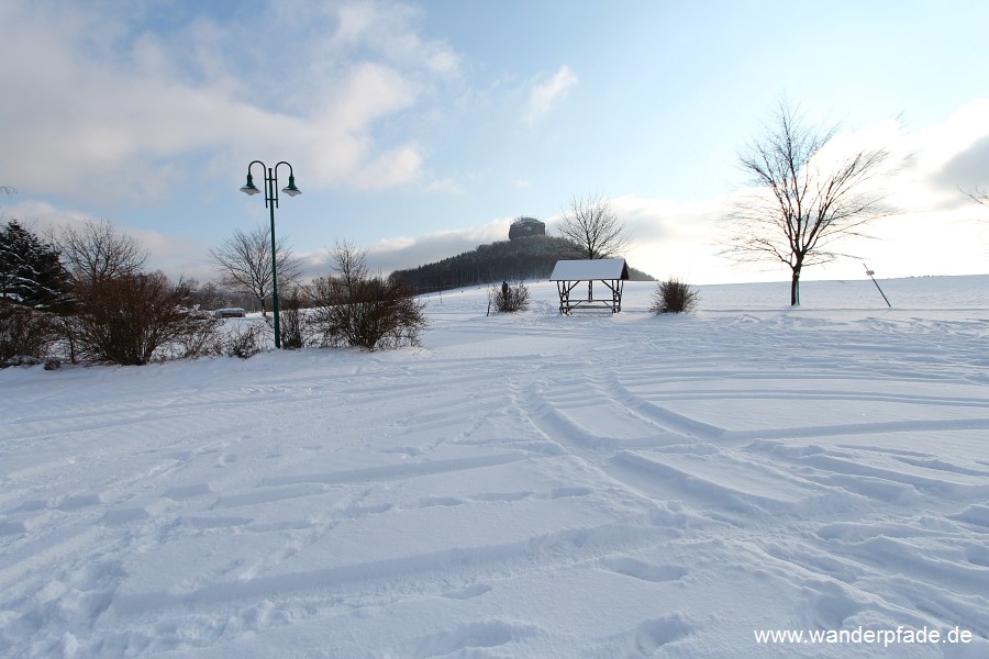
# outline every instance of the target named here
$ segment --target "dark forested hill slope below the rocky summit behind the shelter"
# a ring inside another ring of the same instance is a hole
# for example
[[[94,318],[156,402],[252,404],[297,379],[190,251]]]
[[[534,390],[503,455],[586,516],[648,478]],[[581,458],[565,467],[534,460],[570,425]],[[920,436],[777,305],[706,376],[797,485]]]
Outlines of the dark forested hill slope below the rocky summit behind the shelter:
[[[566,258],[575,257],[564,238],[532,235],[478,245],[441,261],[396,270],[390,277],[420,294],[491,282],[547,279],[556,261]],[[629,275],[636,281],[655,279],[631,266]]]

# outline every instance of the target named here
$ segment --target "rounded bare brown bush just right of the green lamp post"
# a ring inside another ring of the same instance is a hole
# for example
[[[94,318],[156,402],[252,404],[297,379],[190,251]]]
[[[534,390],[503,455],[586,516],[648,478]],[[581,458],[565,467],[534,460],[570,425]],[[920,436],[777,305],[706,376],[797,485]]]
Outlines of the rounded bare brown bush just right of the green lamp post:
[[[365,350],[419,345],[426,327],[425,305],[403,284],[367,275],[364,254],[337,245],[331,254],[335,276],[312,286],[311,317],[324,345]]]

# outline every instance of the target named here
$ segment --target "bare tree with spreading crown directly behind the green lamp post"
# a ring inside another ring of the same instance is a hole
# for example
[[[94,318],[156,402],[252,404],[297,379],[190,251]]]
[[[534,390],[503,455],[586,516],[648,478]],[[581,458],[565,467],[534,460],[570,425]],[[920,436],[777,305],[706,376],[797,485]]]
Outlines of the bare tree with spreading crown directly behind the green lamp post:
[[[278,288],[288,290],[289,286],[299,282],[302,263],[286,245],[284,237],[276,241],[275,250],[278,254]],[[254,295],[267,317],[265,300],[271,293],[274,281],[270,230],[260,225],[248,232],[237,228],[220,247],[211,249],[210,256],[220,270],[220,282]]]

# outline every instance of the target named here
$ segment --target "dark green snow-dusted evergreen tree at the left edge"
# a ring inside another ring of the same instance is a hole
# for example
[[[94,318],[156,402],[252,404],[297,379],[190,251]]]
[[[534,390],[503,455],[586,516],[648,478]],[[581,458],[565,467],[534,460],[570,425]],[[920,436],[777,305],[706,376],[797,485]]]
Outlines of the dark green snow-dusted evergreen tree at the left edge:
[[[68,272],[55,247],[16,220],[0,227],[0,300],[45,308],[64,300],[67,290]]]

